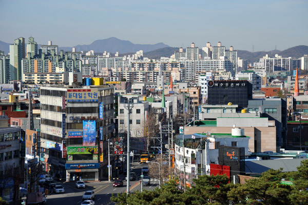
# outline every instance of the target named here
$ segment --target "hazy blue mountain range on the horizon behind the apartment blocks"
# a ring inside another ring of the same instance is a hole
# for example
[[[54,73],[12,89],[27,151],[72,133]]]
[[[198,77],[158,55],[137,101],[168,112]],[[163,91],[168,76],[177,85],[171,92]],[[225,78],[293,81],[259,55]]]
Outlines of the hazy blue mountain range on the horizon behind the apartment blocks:
[[[0,50],[6,54],[9,53],[8,43],[0,41]],[[160,57],[170,57],[175,51],[179,51],[179,48],[169,47],[166,44],[133,44],[129,40],[121,40],[115,37],[110,37],[102,40],[95,40],[90,45],[77,45],[74,47],[60,47],[59,50],[72,51],[75,48],[76,51],[90,51],[93,50],[95,53],[103,53],[104,51],[114,54],[119,52],[120,56],[129,55],[136,53],[139,50],[143,50],[143,56],[153,59],[159,59]],[[203,56],[204,52],[200,49],[200,53]],[[238,57],[241,59],[247,59],[248,63],[253,63],[268,54],[273,57],[275,54],[281,55],[282,57],[299,58],[304,54],[308,54],[308,46],[295,46],[284,51],[273,50],[273,51],[258,51],[250,52],[245,50],[238,50]]]

